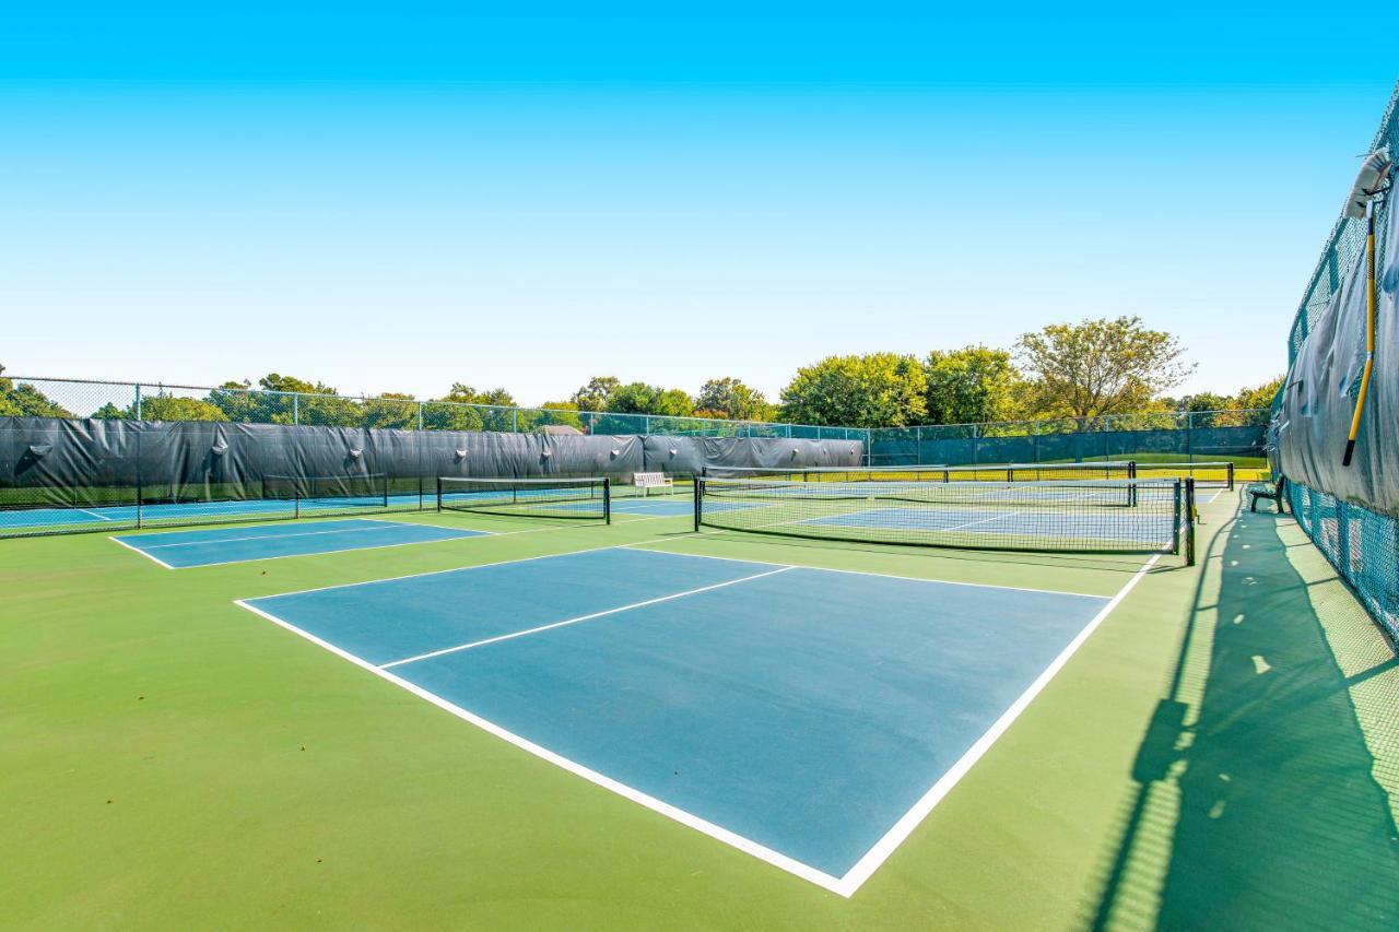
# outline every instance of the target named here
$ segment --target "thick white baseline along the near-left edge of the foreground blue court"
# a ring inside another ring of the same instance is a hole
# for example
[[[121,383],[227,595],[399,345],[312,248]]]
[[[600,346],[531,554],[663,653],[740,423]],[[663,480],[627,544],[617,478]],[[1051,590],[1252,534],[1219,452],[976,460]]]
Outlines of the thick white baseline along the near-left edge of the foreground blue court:
[[[698,816],[694,816],[694,814],[686,812],[684,809],[679,809],[676,806],[672,806],[667,802],[662,802],[660,799],[656,799],[655,796],[644,793],[639,789],[632,789],[631,786],[628,786],[625,784],[621,784],[621,782],[617,782],[616,779],[613,779],[610,777],[604,777],[603,774],[599,774],[595,770],[589,770],[588,767],[583,767],[582,764],[579,764],[576,761],[572,761],[572,760],[569,760],[567,757],[561,757],[560,754],[555,754],[554,751],[548,750],[547,747],[541,747],[540,744],[536,744],[536,743],[533,743],[533,742],[530,742],[530,740],[527,740],[525,737],[520,737],[519,735],[515,735],[513,732],[509,732],[509,730],[501,728],[499,725],[497,725],[497,723],[494,723],[491,721],[487,721],[487,719],[481,718],[480,715],[476,715],[473,712],[466,711],[460,705],[456,705],[455,702],[450,702],[450,701],[442,698],[441,696],[438,696],[435,693],[429,693],[428,690],[422,689],[421,686],[410,683],[410,682],[407,682],[407,680],[404,680],[404,679],[402,679],[402,677],[390,673],[389,670],[381,669],[381,668],[375,666],[374,663],[369,663],[368,661],[364,661],[364,659],[361,659],[358,656],[355,656],[354,654],[343,651],[343,649],[337,648],[334,644],[330,644],[329,641],[322,641],[316,635],[313,635],[313,634],[311,634],[308,631],[302,631],[297,626],[294,626],[294,624],[291,624],[288,621],[283,621],[281,619],[278,619],[274,614],[263,612],[262,609],[256,609],[256,607],[248,605],[248,602],[245,602],[243,599],[235,599],[234,605],[236,605],[239,607],[243,607],[243,609],[248,609],[253,614],[260,616],[263,619],[267,619],[273,624],[277,624],[277,626],[280,626],[283,628],[287,628],[292,634],[298,634],[298,635],[306,638],[312,644],[316,644],[316,645],[319,645],[319,647],[330,651],[336,656],[340,656],[340,658],[343,658],[346,661],[350,661],[355,666],[360,666],[360,668],[362,668],[362,669],[374,673],[375,676],[382,677],[382,679],[393,683],[395,686],[399,686],[399,687],[402,687],[402,689],[413,693],[418,698],[427,700],[428,702],[436,705],[442,711],[449,712],[452,715],[456,715],[460,719],[463,719],[466,722],[470,722],[471,725],[476,725],[481,730],[484,730],[484,732],[487,732],[490,735],[494,735],[494,736],[497,736],[499,739],[504,739],[504,740],[509,742],[511,744],[519,747],[520,750],[527,751],[527,753],[530,753],[530,754],[533,754],[533,756],[536,756],[536,757],[539,757],[541,760],[546,760],[550,764],[554,764],[555,767],[561,767],[562,770],[567,770],[571,774],[582,777],[583,779],[586,779],[586,781],[589,781],[592,784],[596,784],[596,785],[602,786],[603,789],[609,789],[609,791],[617,793],[618,796],[621,796],[624,799],[630,799],[631,802],[642,805],[646,809],[651,809],[652,812],[656,812],[656,813],[660,813],[662,816],[666,816],[667,819],[673,819],[673,820],[679,821],[680,824],[683,824],[683,826],[686,826],[688,828],[694,828],[695,831],[701,831],[701,833],[709,835],[711,838],[722,841],[726,845],[737,848],[739,851],[743,851],[744,854],[753,855],[754,858],[758,858],[760,861],[765,861],[765,862],[774,865],[775,868],[781,868],[782,870],[786,870],[788,873],[793,873],[793,875],[802,877],[803,880],[810,880],[811,883],[814,883],[814,884],[817,884],[820,887],[825,887],[827,890],[831,890],[834,893],[839,893],[841,896],[845,896],[845,897],[851,896],[849,893],[844,893],[841,890],[842,882],[839,879],[837,879],[837,877],[832,877],[828,873],[824,873],[821,870],[817,870],[816,868],[811,868],[809,865],[802,863],[800,861],[796,861],[796,859],[789,858],[789,856],[786,856],[783,854],[772,851],[771,848],[760,845],[758,842],[751,841],[748,838],[744,838],[743,835],[734,834],[734,833],[729,831],[727,828],[716,826],[712,821],[706,821],[706,820],[704,820],[704,819],[701,819]]]

